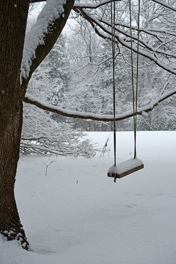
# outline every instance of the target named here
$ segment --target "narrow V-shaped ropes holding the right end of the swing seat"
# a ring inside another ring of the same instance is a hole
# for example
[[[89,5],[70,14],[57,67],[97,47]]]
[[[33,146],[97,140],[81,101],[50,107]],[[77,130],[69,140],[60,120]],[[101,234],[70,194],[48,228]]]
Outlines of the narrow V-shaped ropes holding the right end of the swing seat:
[[[130,35],[131,35],[131,74],[133,92],[133,125],[134,125],[134,159],[136,158],[136,130],[137,130],[137,101],[138,101],[138,66],[139,66],[139,19],[140,19],[140,0],[138,4],[138,44],[137,44],[137,71],[136,71],[136,108],[134,100],[134,74],[133,74],[133,50],[132,50],[132,26],[131,26],[131,0],[129,0],[130,10]]]

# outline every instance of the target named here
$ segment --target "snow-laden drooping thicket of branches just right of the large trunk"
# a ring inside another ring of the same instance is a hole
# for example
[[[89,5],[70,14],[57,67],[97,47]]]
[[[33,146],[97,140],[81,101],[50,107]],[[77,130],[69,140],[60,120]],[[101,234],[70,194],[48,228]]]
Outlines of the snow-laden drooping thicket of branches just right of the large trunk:
[[[94,155],[96,145],[72,124],[55,122],[42,109],[24,104],[20,153],[25,155],[57,154],[77,157]],[[89,153],[89,154],[88,154]]]

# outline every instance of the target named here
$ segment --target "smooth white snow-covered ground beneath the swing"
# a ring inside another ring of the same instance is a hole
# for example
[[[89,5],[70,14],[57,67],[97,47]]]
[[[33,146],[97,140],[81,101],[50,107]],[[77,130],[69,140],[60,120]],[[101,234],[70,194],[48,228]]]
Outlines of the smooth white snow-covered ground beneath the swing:
[[[109,134],[89,136],[103,146]],[[118,163],[132,158],[133,132],[117,141]],[[33,252],[0,237],[0,263],[176,263],[176,131],[137,132],[144,169],[116,183],[113,146],[98,155],[57,157],[46,176],[48,157],[21,156],[15,196]]]

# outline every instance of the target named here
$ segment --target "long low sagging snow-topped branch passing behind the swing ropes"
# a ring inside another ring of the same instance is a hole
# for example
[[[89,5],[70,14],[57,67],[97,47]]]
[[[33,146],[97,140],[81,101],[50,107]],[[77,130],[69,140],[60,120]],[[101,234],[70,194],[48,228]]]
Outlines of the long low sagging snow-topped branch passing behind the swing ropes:
[[[176,94],[176,88],[165,93],[165,94],[162,94],[161,96],[159,96],[157,99],[153,100],[147,106],[138,108],[137,109],[137,115],[145,115],[145,113],[152,111],[154,109],[154,107],[156,107],[160,102],[164,101],[165,99],[171,97],[174,94]],[[80,118],[80,119],[92,119],[92,120],[96,120],[96,121],[105,121],[105,122],[109,122],[109,121],[114,120],[113,115],[82,113],[79,111],[72,111],[72,110],[63,109],[59,106],[55,106],[52,104],[47,104],[45,102],[42,102],[39,99],[37,99],[37,98],[31,96],[30,94],[27,94],[27,93],[26,93],[25,97],[23,98],[23,101],[26,103],[38,106],[39,108],[41,108],[43,110],[54,112],[54,113],[60,114],[62,116],[74,117],[74,118]],[[123,119],[127,119],[129,117],[132,117],[132,116],[133,116],[133,111],[129,111],[126,113],[117,114],[115,117],[116,117],[116,121],[120,121]]]

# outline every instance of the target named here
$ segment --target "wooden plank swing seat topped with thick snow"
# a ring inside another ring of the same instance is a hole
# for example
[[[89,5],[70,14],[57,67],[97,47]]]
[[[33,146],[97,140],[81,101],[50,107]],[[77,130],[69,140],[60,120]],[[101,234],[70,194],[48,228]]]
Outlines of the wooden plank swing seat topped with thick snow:
[[[118,179],[131,174],[137,170],[143,169],[144,164],[143,161],[138,158],[132,158],[126,160],[118,165],[112,165],[108,170],[108,177],[116,177]]]

